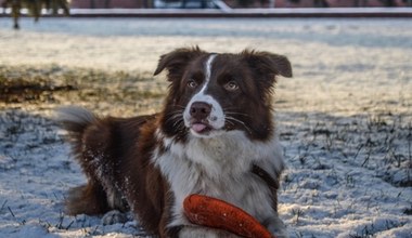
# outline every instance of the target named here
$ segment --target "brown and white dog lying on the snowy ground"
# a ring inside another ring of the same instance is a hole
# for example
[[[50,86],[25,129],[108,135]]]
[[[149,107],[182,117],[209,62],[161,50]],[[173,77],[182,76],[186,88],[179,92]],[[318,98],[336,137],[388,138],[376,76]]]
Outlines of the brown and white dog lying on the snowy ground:
[[[183,214],[191,194],[219,198],[285,237],[276,189],[284,168],[273,121],[278,75],[292,77],[285,56],[245,50],[217,54],[178,49],[160,57],[170,88],[159,114],[98,118],[66,107],[60,120],[88,177],[70,190],[70,214],[131,209],[160,237],[233,237],[195,226]]]

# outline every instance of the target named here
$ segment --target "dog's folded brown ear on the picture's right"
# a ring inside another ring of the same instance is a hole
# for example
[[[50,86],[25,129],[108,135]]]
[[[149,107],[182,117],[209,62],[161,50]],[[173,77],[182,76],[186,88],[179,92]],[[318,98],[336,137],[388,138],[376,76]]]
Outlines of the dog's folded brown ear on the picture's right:
[[[278,75],[292,78],[292,66],[286,56],[250,50],[243,51],[242,55],[254,70],[269,76],[272,80]]]

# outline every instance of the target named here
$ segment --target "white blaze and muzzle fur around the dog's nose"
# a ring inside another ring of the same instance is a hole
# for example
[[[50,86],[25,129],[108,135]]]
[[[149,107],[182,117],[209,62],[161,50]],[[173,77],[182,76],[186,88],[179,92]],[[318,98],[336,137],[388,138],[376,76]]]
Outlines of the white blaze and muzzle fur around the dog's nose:
[[[214,60],[217,55],[211,54],[205,64],[205,80],[201,88],[201,90],[193,95],[192,100],[188,103],[184,113],[183,113],[183,119],[184,119],[184,125],[188,128],[191,128],[192,133],[197,134],[196,132],[202,131],[206,125],[204,124],[193,124],[192,123],[192,116],[190,114],[190,109],[192,107],[193,103],[206,103],[211,106],[210,115],[207,117],[207,123],[213,130],[219,130],[224,127],[224,114],[223,109],[220,106],[220,104],[209,94],[206,94],[206,90],[209,87],[210,83],[210,76],[211,76],[211,65],[214,63]]]

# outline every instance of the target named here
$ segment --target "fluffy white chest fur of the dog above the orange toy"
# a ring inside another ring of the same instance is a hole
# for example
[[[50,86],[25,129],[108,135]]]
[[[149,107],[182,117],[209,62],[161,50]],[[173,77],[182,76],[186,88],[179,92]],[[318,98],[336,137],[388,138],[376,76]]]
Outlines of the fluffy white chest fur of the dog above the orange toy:
[[[190,137],[186,143],[176,143],[159,131],[156,136],[165,149],[155,150],[153,162],[175,195],[170,226],[188,224],[182,204],[191,194],[226,200],[261,221],[274,215],[270,187],[252,172],[252,166],[260,164],[276,177],[283,162],[275,136],[265,143],[252,142],[240,131],[213,140]]]

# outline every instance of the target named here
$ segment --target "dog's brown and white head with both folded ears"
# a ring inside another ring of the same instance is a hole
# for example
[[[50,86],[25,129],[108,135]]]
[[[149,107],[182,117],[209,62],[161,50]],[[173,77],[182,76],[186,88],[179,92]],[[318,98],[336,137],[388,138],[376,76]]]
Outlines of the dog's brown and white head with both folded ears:
[[[168,136],[213,137],[240,130],[265,141],[273,132],[271,93],[278,75],[292,77],[285,56],[245,50],[217,54],[178,49],[160,57],[155,75],[170,81],[162,129]]]

